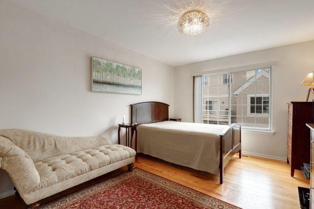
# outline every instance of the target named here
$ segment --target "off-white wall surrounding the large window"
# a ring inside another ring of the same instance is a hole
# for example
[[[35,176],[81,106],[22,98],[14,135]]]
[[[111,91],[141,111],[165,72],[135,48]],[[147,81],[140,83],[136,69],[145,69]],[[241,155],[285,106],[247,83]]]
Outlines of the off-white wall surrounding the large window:
[[[273,130],[275,134],[243,133],[242,150],[266,157],[286,159],[287,102],[305,101],[307,87],[299,84],[307,72],[314,71],[314,41],[175,67],[174,116],[182,117],[186,122],[193,121],[191,72],[226,69],[269,61],[278,61],[278,64],[273,67]]]

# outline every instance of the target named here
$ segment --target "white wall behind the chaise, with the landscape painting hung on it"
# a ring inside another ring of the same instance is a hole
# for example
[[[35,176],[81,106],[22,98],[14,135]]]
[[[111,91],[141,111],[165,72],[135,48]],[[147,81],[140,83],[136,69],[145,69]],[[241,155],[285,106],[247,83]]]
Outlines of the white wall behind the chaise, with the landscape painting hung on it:
[[[173,67],[3,0],[0,28],[0,129],[117,142],[132,103],[165,102],[173,115]],[[142,95],[92,93],[91,56],[141,68]]]

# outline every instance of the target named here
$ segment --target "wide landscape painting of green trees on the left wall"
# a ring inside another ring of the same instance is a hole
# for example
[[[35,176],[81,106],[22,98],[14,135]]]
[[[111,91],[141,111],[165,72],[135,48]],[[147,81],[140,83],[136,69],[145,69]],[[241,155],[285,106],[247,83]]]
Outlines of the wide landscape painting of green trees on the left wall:
[[[92,91],[142,94],[142,70],[92,57]]]

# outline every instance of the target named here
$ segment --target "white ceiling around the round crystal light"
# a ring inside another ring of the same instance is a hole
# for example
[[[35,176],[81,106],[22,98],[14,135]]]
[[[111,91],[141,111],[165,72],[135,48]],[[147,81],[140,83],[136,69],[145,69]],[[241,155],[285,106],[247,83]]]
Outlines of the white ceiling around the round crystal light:
[[[172,66],[314,39],[314,0],[11,0]],[[208,30],[177,30],[200,9]]]

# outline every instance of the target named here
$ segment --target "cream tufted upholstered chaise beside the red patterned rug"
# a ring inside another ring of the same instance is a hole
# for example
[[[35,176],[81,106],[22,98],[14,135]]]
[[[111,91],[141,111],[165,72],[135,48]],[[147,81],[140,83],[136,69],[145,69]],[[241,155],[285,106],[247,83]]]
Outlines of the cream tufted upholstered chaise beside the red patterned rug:
[[[135,154],[102,137],[0,130],[0,168],[27,205],[125,165],[131,169]]]

